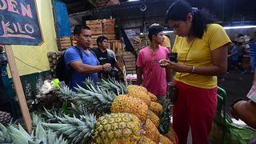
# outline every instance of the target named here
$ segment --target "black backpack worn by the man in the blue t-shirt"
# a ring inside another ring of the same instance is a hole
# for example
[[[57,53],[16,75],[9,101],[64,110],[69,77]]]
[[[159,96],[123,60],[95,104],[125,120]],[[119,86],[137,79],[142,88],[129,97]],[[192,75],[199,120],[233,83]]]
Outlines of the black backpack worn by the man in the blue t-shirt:
[[[78,50],[79,55],[82,59],[82,52],[81,50],[79,50],[78,47],[74,46],[73,47],[75,50]],[[64,58],[64,54],[66,53],[66,50],[62,53],[62,55],[60,56],[60,58],[58,58],[58,62],[57,62],[57,66],[56,66],[56,77],[58,78],[58,80],[60,82],[64,81],[66,85],[69,84],[70,82],[70,78],[71,78],[71,74],[72,74],[72,68],[67,68],[66,64],[65,64],[65,58]]]

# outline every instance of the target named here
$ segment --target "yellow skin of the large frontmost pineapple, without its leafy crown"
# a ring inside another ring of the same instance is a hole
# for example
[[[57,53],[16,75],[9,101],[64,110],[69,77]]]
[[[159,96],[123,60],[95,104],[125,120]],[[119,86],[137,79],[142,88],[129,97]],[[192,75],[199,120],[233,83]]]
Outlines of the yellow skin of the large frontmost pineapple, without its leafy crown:
[[[134,114],[106,114],[98,118],[93,143],[135,144],[141,137],[142,122]]]

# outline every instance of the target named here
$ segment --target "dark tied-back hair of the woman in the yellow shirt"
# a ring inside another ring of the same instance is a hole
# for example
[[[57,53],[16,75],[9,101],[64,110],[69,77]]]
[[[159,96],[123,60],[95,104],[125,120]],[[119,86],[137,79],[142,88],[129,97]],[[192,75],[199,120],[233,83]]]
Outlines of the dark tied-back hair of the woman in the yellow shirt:
[[[202,38],[204,30],[206,30],[207,24],[214,22],[214,16],[207,10],[198,8],[192,8],[192,6],[185,1],[174,2],[166,12],[166,22],[169,20],[174,21],[186,21],[187,14],[193,15],[192,31],[195,37]]]

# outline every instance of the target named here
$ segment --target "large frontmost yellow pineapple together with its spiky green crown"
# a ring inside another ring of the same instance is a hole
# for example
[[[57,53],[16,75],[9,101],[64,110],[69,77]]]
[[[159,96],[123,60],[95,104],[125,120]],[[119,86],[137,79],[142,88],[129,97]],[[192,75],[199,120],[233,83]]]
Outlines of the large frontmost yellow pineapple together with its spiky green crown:
[[[142,122],[128,113],[106,114],[96,121],[92,114],[82,118],[64,115],[59,123],[44,123],[70,139],[70,143],[137,143],[142,137]]]

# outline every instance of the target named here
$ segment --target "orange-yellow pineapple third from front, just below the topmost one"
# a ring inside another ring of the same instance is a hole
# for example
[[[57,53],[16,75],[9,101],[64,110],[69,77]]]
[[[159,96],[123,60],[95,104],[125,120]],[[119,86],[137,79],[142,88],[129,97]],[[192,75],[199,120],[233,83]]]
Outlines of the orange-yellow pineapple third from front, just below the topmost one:
[[[150,96],[146,94],[146,92],[138,89],[129,89],[128,96],[141,99],[143,102],[146,103],[147,106],[150,106]]]

